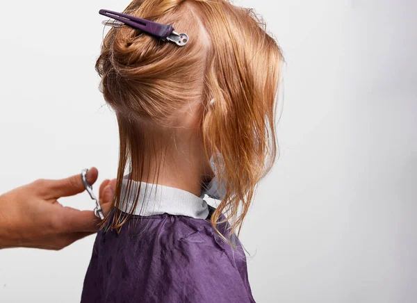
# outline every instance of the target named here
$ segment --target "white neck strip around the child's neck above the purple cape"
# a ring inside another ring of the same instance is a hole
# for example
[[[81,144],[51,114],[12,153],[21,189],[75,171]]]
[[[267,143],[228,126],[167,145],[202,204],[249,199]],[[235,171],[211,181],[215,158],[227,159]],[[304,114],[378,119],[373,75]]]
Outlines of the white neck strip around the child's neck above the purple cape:
[[[131,181],[130,188],[128,185],[128,180],[125,177],[122,181],[122,195],[120,197],[120,204],[123,205],[119,207],[125,213],[142,216],[168,213],[197,219],[206,219],[208,216],[207,202],[202,197],[197,197],[186,190],[143,181]],[[138,192],[138,204],[131,211]]]

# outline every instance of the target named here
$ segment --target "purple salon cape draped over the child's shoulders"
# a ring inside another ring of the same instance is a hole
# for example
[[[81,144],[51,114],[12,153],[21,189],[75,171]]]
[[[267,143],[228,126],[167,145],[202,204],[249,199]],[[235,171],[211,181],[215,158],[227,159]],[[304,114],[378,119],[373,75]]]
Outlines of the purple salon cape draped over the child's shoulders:
[[[133,215],[120,234],[99,231],[81,302],[255,302],[242,245],[236,237],[235,249],[225,243],[211,227],[214,208],[204,207],[206,219]],[[227,237],[226,227],[219,229]]]

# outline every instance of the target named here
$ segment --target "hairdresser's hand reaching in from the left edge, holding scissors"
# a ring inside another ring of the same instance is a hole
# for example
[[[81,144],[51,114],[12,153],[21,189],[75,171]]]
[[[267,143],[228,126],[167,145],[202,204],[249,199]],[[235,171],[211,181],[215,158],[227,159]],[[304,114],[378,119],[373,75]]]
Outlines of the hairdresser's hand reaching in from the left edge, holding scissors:
[[[97,180],[95,167],[88,170],[87,181]],[[101,183],[99,200],[106,215],[110,210],[115,180]],[[61,180],[38,180],[0,195],[0,249],[36,247],[62,249],[99,229],[100,220],[93,211],[63,207],[60,197],[84,191],[81,174]],[[88,195],[82,199],[93,207]]]

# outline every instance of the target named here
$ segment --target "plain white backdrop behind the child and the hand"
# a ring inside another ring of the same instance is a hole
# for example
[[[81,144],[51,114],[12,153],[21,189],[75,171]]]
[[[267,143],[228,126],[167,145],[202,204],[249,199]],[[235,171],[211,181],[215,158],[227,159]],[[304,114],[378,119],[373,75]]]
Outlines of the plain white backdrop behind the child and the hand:
[[[92,165],[99,182],[115,177],[94,64],[99,9],[128,3],[3,3],[0,193]],[[281,157],[241,235],[255,300],[417,302],[416,1],[236,4],[265,17],[287,63]],[[94,206],[86,193],[62,202]],[[1,250],[0,302],[79,302],[94,238]]]

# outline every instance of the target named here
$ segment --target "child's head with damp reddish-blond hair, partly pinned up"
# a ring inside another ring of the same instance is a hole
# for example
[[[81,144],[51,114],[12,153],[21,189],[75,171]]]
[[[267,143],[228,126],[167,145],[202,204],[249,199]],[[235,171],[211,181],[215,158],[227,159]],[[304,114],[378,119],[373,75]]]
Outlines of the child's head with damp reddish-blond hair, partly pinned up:
[[[179,47],[129,26],[106,35],[96,69],[120,128],[115,204],[126,165],[140,180],[146,159],[170,153],[172,134],[187,129],[201,138],[207,163],[222,154],[227,194],[212,222],[224,212],[235,230],[275,159],[281,49],[252,10],[225,0],[133,0],[124,13],[172,24],[190,40]]]

